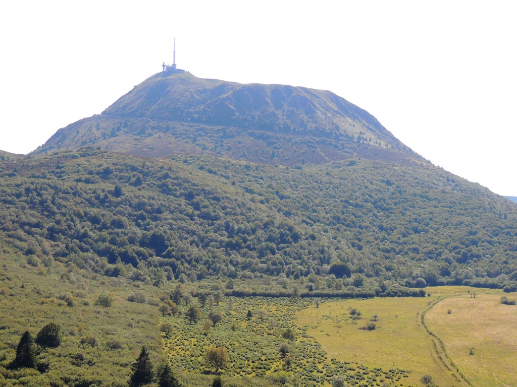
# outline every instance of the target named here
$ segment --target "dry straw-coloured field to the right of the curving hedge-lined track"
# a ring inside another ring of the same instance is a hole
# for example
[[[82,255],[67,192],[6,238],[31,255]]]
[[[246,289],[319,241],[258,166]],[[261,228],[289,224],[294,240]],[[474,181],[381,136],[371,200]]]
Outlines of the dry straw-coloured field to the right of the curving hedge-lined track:
[[[502,295],[449,297],[425,316],[474,387],[517,386],[517,306],[501,304]],[[515,293],[504,295],[517,299]]]

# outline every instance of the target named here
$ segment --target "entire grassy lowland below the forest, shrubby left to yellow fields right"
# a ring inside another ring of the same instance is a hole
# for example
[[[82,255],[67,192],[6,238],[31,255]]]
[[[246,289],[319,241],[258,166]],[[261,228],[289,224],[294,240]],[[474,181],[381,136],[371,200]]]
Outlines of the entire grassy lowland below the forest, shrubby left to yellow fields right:
[[[423,375],[438,386],[517,384],[517,307],[501,304],[501,291],[428,287],[429,297],[316,302],[225,297],[212,286],[201,307],[200,294],[178,284],[130,283],[57,261],[5,260],[0,385],[127,385],[144,345],[156,370],[168,362],[181,383],[194,387],[211,385],[217,374],[229,387],[330,386],[336,378],[357,387],[421,386]],[[176,313],[162,313],[162,301],[178,287]],[[110,305],[99,304],[100,297]],[[199,313],[191,321],[193,305]],[[37,369],[12,368],[21,335],[35,336],[50,322],[62,330],[61,345],[40,348]],[[229,354],[220,370],[205,359],[214,347]]]

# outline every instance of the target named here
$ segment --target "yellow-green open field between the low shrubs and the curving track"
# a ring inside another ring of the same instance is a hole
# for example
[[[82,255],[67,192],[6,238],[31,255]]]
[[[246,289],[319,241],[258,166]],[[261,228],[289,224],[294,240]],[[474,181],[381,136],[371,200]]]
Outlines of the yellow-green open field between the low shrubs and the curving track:
[[[307,328],[329,359],[411,370],[404,385],[421,385],[419,379],[425,374],[439,386],[461,385],[435,360],[430,337],[419,324],[420,313],[436,297],[331,301],[303,310],[297,317],[299,326]],[[357,325],[349,319],[350,308],[362,312]],[[378,315],[376,329],[361,329],[374,314]]]

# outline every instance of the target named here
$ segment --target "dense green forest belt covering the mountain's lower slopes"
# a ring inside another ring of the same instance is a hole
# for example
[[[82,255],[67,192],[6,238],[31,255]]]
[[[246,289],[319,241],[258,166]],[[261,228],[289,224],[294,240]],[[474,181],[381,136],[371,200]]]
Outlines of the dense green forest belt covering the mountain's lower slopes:
[[[149,162],[83,148],[2,170],[2,238],[35,262],[241,291],[517,279],[515,206],[433,166]]]

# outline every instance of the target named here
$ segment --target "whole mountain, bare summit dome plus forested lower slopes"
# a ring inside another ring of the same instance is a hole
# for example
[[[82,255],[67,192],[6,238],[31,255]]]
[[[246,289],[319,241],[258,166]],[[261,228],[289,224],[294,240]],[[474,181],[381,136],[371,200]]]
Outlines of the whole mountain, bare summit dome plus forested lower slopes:
[[[515,207],[329,91],[158,73],[2,168],[8,245],[96,272],[517,286]]]

